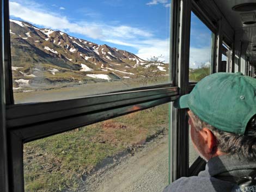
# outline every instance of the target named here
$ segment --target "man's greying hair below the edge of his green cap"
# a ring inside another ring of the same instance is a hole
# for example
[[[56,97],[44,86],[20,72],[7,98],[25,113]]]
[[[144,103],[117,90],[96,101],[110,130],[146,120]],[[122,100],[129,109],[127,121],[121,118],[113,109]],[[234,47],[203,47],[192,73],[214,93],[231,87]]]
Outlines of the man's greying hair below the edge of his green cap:
[[[208,128],[217,140],[217,148],[228,154],[237,154],[248,160],[256,159],[256,115],[248,122],[245,135],[237,135],[217,129],[199,119],[190,111],[194,127],[200,131],[203,127]]]

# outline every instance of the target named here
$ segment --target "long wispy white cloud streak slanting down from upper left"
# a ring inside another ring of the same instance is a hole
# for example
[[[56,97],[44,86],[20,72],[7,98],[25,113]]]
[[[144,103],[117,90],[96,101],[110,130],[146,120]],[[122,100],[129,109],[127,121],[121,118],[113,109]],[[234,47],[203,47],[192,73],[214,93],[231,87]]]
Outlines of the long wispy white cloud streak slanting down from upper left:
[[[93,22],[70,22],[65,16],[48,13],[48,11],[42,9],[31,9],[16,2],[10,2],[10,15],[19,17],[33,24],[63,30],[64,32],[79,33],[93,39],[102,40],[107,37],[109,38],[109,36],[125,39],[132,39],[136,36],[152,36],[150,32],[130,26],[108,26],[106,24]]]

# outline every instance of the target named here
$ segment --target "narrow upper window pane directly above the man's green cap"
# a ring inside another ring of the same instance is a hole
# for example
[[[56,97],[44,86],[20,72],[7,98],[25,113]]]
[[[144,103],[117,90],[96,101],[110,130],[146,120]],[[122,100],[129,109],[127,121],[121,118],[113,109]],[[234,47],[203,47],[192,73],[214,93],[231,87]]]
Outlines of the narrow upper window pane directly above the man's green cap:
[[[215,35],[191,12],[189,81],[198,82],[210,75]]]

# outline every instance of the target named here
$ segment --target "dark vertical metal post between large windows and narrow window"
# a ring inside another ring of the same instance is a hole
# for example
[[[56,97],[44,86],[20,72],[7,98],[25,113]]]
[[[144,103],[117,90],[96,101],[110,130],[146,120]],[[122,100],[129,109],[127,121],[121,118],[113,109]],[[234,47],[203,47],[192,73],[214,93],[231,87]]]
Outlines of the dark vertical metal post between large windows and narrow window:
[[[175,32],[177,41],[173,41],[172,62],[178,64],[176,69],[175,85],[180,88],[180,95],[188,91],[188,69],[190,48],[190,22],[191,22],[191,0],[173,1],[175,11],[173,16],[176,23],[172,27],[178,27]],[[178,18],[179,15],[179,18]],[[184,109],[172,108],[172,181],[188,175],[188,128]]]

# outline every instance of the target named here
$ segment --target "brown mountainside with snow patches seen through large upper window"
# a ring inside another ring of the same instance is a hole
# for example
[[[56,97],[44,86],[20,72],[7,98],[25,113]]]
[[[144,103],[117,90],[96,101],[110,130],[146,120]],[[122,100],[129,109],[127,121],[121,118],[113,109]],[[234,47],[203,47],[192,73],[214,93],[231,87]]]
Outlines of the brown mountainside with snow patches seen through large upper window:
[[[78,39],[59,30],[10,20],[11,60],[15,91],[59,83],[95,83],[168,75],[168,64],[150,63],[137,55]]]

